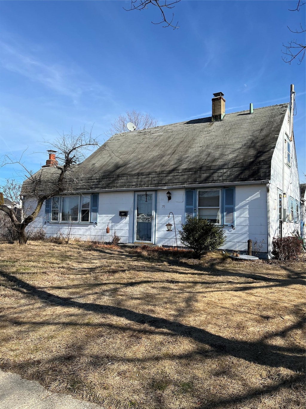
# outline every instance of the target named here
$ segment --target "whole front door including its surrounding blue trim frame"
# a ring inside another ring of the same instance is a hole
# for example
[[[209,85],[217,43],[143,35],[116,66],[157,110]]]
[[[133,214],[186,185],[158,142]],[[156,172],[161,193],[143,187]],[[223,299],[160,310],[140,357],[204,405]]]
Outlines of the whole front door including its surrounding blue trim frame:
[[[155,192],[135,194],[134,241],[153,243]]]

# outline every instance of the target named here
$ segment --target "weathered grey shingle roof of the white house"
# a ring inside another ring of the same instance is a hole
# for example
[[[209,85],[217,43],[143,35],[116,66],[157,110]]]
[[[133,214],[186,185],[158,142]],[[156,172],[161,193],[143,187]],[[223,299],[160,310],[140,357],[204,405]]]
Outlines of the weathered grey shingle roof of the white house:
[[[73,173],[75,191],[268,180],[288,103],[116,134]],[[57,169],[42,169],[53,178]],[[67,189],[69,191],[71,189]]]

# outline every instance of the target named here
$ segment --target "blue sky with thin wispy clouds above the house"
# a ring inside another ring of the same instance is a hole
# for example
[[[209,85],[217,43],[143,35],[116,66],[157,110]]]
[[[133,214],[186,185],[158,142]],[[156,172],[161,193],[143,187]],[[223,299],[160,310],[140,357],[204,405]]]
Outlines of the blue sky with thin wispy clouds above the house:
[[[126,110],[160,125],[211,115],[213,92],[226,112],[289,101],[301,182],[305,169],[305,61],[282,61],[287,25],[305,24],[296,1],[187,1],[162,28],[155,7],[124,11],[129,1],[1,2],[1,155],[38,170],[59,133],[93,126],[102,144]],[[94,125],[93,125],[94,124]],[[17,165],[1,169],[19,175]]]

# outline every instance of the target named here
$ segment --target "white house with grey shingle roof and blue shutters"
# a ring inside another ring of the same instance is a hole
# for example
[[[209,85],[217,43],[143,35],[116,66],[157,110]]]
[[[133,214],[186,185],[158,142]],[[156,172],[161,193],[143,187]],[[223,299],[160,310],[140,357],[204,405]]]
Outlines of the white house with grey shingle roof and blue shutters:
[[[218,92],[210,117],[113,135],[31,229],[105,242],[116,231],[120,243],[158,246],[175,246],[176,233],[180,246],[177,230],[189,215],[222,226],[226,250],[246,252],[251,239],[253,250],[271,255],[273,237],[300,226],[294,95],[292,85],[290,103],[225,114]],[[46,180],[54,163],[50,151]]]

